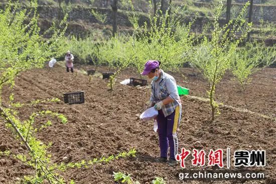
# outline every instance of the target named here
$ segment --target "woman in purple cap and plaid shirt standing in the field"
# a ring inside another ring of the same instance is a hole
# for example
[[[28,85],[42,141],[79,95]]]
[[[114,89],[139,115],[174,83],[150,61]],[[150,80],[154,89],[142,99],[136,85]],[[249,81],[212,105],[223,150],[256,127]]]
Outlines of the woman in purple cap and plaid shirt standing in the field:
[[[160,64],[160,61],[147,61],[141,74],[153,78],[149,107],[158,110],[157,123],[161,152],[158,161],[167,161],[170,145],[169,164],[173,166],[177,164],[177,129],[181,120],[181,102],[174,77],[160,69]]]

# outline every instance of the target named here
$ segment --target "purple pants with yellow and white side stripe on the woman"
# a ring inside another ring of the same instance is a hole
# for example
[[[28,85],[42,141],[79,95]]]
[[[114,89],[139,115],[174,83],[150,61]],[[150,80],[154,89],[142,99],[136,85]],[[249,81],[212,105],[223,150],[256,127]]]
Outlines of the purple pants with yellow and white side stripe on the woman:
[[[169,116],[165,117],[162,110],[158,111],[157,124],[160,145],[160,156],[168,157],[170,145],[170,158],[175,159],[178,151],[177,128],[179,120],[179,106]]]

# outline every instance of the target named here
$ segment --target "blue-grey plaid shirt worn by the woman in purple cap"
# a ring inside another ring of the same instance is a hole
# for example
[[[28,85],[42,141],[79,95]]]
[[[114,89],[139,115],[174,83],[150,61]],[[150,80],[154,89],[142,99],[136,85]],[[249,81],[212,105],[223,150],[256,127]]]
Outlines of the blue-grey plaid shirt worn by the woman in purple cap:
[[[161,70],[160,80],[152,81],[152,95],[150,101],[158,103],[167,97],[174,99],[174,102],[171,102],[162,107],[162,111],[165,117],[169,116],[175,111],[176,107],[178,106],[177,100],[180,100],[180,98],[174,77]]]

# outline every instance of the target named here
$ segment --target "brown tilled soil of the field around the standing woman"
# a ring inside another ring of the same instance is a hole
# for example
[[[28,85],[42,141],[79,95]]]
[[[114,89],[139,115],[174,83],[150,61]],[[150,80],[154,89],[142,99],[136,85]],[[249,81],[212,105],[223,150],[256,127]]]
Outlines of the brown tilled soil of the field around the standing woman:
[[[89,68],[89,66],[79,66]],[[99,68],[104,71],[104,68]],[[170,72],[169,72],[170,73]],[[207,97],[208,83],[201,74],[192,75],[192,69],[184,68],[187,76],[184,80],[178,73],[172,73],[177,83],[190,88],[191,96]],[[183,104],[182,122],[179,127],[179,147],[192,151],[193,148],[221,148],[235,150],[265,150],[266,166],[250,167],[247,170],[261,169],[267,173],[263,180],[192,180],[180,181],[178,173],[184,172],[180,165],[169,166],[158,163],[158,134],[153,131],[153,121],[143,122],[139,115],[145,110],[150,98],[150,87],[133,87],[119,84],[118,81],[139,76],[134,70],[127,69],[121,73],[113,91],[109,91],[107,80],[93,76],[89,81],[87,75],[66,73],[59,65],[53,69],[34,69],[21,73],[16,78],[14,89],[5,88],[3,104],[7,104],[9,95],[14,93],[15,102],[24,104],[36,99],[59,98],[63,93],[84,91],[85,103],[67,105],[59,103],[42,103],[18,109],[21,120],[26,120],[33,112],[51,110],[64,114],[67,124],[51,119],[53,125],[37,133],[37,138],[44,143],[52,142],[49,153],[52,161],[77,162],[108,156],[131,148],[137,150],[135,158],[120,158],[105,164],[89,168],[73,168],[61,173],[67,180],[76,183],[115,183],[114,172],[131,173],[134,180],[151,183],[156,177],[163,177],[167,183],[276,183],[276,69],[266,68],[253,75],[251,83],[242,91],[238,83],[226,74],[217,86],[217,100],[236,108],[248,109],[269,116],[247,113],[232,108],[221,108],[216,121],[211,122],[209,104],[201,100],[181,97]],[[35,126],[41,126],[47,117],[38,118]],[[13,153],[27,152],[26,148],[14,138],[11,131],[0,121],[0,150]],[[233,156],[233,155],[231,155]],[[219,170],[217,167],[195,167],[191,164],[192,156],[186,159],[190,170]],[[233,160],[232,160],[233,161]],[[225,163],[225,155],[224,155]],[[231,164],[231,168],[234,169]],[[185,170],[187,171],[187,170]],[[24,175],[34,170],[9,156],[0,156],[0,183],[16,183]]]

